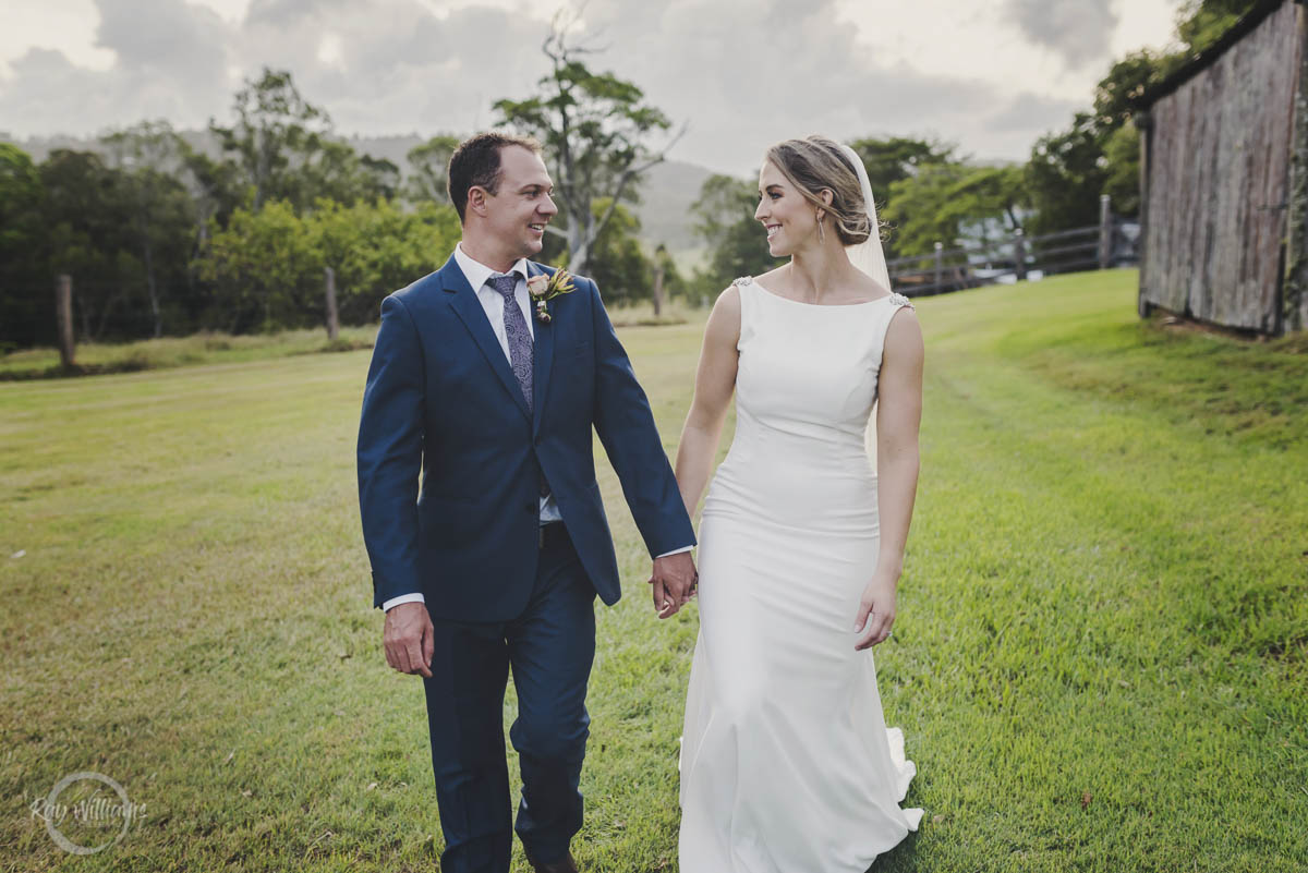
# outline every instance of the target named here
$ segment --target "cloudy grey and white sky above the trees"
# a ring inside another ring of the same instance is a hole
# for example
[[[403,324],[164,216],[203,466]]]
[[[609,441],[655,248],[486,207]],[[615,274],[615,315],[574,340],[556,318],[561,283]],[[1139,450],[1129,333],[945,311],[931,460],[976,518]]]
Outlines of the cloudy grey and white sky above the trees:
[[[561,3],[562,0],[560,0]],[[540,0],[5,0],[0,132],[226,119],[262,65],[343,133],[467,132],[544,73]],[[689,132],[671,157],[746,173],[787,136],[935,135],[1025,158],[1112,59],[1172,38],[1177,0],[590,0],[593,67]]]

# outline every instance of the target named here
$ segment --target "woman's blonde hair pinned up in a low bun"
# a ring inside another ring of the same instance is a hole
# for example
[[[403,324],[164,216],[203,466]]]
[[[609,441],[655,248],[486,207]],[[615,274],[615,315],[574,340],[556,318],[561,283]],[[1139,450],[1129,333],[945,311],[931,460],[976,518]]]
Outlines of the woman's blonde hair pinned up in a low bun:
[[[835,140],[825,136],[785,140],[768,149],[764,157],[815,209],[831,214],[841,244],[857,246],[867,240],[872,222],[867,217],[858,171]],[[829,206],[819,196],[824,188],[832,193]]]

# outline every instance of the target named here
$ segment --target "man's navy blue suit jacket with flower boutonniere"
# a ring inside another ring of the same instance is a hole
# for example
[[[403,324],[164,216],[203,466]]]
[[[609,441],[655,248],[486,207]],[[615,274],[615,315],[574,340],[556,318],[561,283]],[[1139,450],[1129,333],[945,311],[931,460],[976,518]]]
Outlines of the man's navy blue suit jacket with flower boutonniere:
[[[553,271],[528,261],[527,272]],[[542,476],[586,575],[615,604],[617,558],[595,482],[591,426],[650,554],[695,542],[649,401],[599,290],[587,278],[574,284],[549,301],[551,321],[535,323],[532,410],[453,256],[382,301],[358,427],[374,605],[421,592],[442,618],[518,616],[535,582]]]

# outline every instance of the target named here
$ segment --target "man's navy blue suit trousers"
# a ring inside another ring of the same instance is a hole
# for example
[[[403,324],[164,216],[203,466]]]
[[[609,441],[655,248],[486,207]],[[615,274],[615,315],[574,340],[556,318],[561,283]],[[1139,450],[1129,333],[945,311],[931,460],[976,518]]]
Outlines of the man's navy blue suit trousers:
[[[595,659],[595,589],[562,524],[540,548],[526,609],[504,622],[432,616],[424,678],[443,873],[508,873],[513,831],[539,863],[564,856],[581,830],[581,766],[590,734],[586,684]],[[561,536],[559,536],[561,535]],[[428,609],[438,604],[428,604]],[[518,717],[509,731],[522,771],[511,825],[504,744],[509,672]]]

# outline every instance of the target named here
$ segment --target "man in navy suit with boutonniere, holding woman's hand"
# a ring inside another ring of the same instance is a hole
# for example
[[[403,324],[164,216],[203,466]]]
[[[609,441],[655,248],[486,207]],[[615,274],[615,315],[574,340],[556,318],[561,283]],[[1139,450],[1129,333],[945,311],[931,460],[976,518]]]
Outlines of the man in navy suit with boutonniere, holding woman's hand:
[[[450,158],[463,240],[382,301],[358,429],[358,501],[387,663],[422,676],[445,873],[576,870],[594,599],[620,596],[591,426],[654,558],[667,617],[695,582],[695,532],[645,392],[590,280],[538,315],[527,278],[557,213],[534,140],[483,133]],[[419,473],[422,487],[419,491]],[[522,800],[510,822],[504,750]]]

